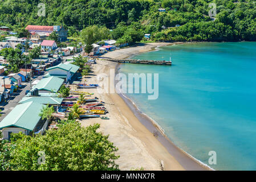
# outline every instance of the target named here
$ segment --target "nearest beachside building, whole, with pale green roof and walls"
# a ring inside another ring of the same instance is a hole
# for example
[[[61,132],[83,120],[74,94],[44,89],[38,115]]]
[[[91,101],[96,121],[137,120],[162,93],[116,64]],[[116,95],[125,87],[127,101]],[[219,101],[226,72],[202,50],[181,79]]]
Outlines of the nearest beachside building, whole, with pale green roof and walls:
[[[11,133],[22,132],[30,135],[46,129],[48,122],[40,116],[42,104],[38,102],[26,102],[14,107],[13,110],[0,122],[0,129],[3,130],[3,139],[10,139]]]

